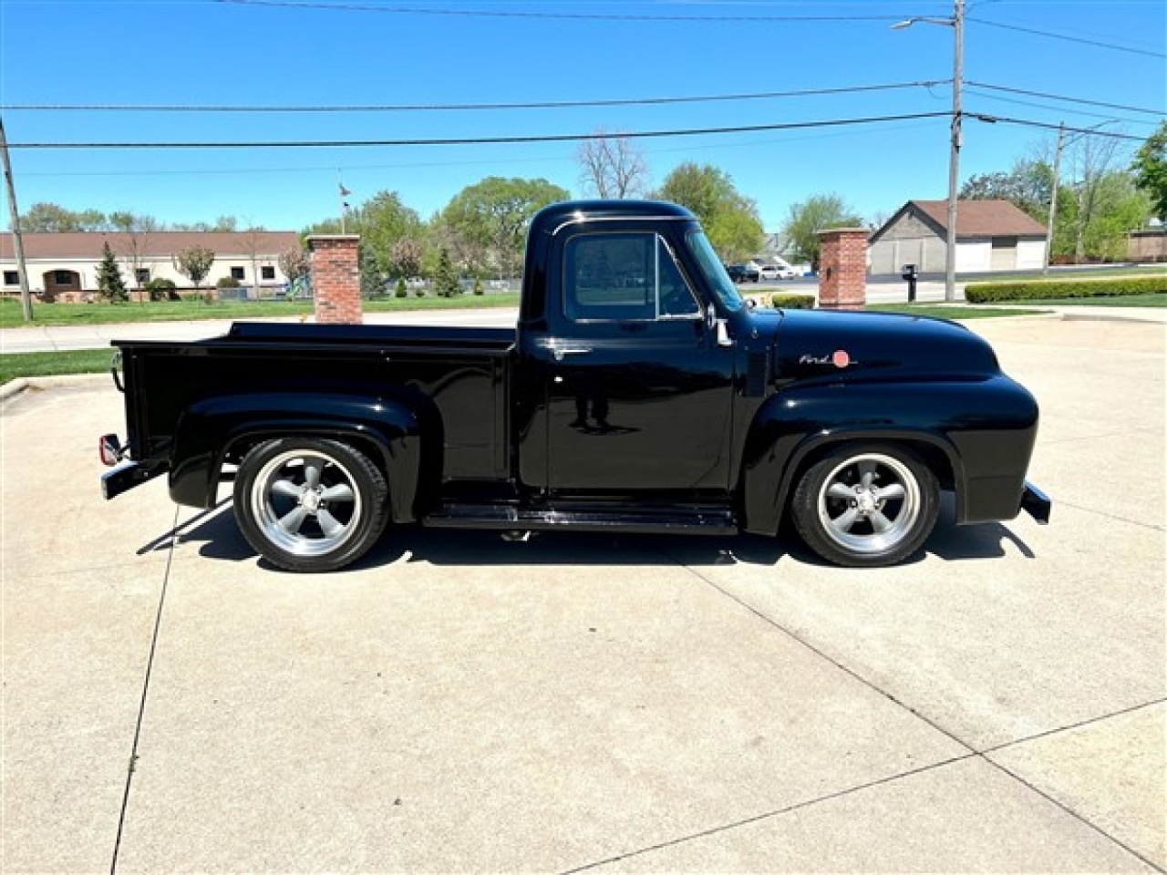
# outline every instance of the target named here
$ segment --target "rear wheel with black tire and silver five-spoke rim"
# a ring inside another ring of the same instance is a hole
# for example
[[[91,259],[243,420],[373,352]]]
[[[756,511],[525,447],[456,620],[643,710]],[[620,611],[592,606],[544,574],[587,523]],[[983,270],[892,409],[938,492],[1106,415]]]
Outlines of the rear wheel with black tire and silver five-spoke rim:
[[[389,488],[340,441],[260,443],[239,466],[235,516],[247,542],[289,572],[331,572],[364,555],[385,528]]]

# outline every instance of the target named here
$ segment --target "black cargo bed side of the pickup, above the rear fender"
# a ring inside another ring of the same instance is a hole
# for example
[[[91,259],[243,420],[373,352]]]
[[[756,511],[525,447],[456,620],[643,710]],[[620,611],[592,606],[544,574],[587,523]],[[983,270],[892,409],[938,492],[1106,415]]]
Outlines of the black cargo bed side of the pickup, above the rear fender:
[[[123,354],[138,460],[166,457],[183,412],[210,398],[294,408],[314,398],[405,393],[440,420],[443,480],[509,476],[513,329],[237,322],[204,341],[113,345]]]

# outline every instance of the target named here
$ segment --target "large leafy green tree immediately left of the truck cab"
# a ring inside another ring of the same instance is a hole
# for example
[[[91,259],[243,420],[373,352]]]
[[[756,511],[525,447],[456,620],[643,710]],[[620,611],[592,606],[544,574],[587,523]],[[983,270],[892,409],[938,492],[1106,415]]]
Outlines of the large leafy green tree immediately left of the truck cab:
[[[441,224],[491,264],[499,279],[516,276],[523,264],[526,229],[544,206],[566,201],[566,189],[546,180],[490,176],[462,189],[441,214]]]

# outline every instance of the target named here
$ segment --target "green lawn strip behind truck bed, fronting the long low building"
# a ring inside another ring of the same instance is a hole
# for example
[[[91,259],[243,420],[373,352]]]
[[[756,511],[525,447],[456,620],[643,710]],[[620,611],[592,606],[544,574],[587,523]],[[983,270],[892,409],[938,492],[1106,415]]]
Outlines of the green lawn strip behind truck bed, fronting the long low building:
[[[457,298],[384,298],[364,302],[365,313],[518,307],[517,292]],[[119,322],[176,322],[201,318],[273,318],[313,314],[312,301],[154,301],[139,303],[33,303],[33,326],[98,326]],[[20,301],[0,300],[0,328],[26,324]]]

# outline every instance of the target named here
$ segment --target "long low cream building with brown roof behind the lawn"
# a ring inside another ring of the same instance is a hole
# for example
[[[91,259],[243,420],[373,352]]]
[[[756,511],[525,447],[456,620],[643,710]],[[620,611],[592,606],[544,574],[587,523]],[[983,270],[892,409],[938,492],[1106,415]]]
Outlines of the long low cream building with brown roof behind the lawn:
[[[300,247],[295,231],[78,231],[25,233],[25,265],[33,294],[47,301],[85,301],[97,294],[97,268],[110,244],[126,288],[145,287],[165,278],[182,289],[194,284],[175,266],[175,256],[194,246],[215,253],[215,264],[202,288],[231,276],[254,292],[274,293],[287,285],[279,266],[280,253]],[[0,271],[4,294],[20,294],[20,274],[12,233],[0,233]]]

